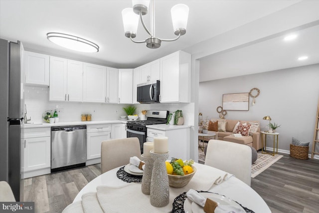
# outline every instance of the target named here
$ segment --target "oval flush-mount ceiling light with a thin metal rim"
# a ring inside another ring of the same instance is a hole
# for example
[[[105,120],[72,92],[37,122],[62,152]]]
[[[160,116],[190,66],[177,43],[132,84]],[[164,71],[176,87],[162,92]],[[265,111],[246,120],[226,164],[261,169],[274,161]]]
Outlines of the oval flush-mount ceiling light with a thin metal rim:
[[[98,52],[99,46],[92,41],[74,35],[59,32],[49,32],[46,38],[60,46],[80,52]]]

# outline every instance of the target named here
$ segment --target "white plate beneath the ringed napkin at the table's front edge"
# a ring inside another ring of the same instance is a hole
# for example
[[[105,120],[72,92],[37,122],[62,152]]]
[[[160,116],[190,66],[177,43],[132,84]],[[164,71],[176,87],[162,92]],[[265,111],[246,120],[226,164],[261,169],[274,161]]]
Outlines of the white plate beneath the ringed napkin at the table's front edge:
[[[209,198],[210,200],[215,201],[216,203],[220,205],[234,206],[234,207],[242,209],[242,207],[239,204],[237,204],[236,202],[232,201],[229,198],[226,198],[225,196],[217,195],[213,193],[200,193],[200,195],[202,195],[204,198]],[[190,201],[189,199],[186,199],[184,202],[184,211],[188,213],[204,213],[204,209],[201,206],[195,203],[193,204],[193,202]]]

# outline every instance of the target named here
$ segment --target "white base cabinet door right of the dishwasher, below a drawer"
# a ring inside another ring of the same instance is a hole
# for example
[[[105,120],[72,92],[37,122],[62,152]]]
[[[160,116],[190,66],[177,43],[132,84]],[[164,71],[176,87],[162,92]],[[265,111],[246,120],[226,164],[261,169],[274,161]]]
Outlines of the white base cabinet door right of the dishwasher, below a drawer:
[[[110,133],[87,133],[87,160],[101,158],[102,141],[110,140]]]

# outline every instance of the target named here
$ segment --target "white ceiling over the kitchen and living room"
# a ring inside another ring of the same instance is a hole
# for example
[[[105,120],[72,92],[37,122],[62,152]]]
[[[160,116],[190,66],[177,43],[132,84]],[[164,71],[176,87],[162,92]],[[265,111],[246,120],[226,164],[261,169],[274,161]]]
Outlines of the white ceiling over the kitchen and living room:
[[[160,38],[174,37],[170,20],[170,8],[173,5],[187,4],[189,16],[185,35],[177,41],[162,42],[158,49],[149,49],[145,44],[133,43],[124,36],[121,11],[132,7],[131,0],[0,0],[0,37],[11,41],[20,40],[24,48],[30,51],[116,68],[135,68],[177,50],[193,54],[199,43],[300,2],[301,0],[155,0],[155,32]],[[149,14],[145,16],[145,23],[150,26]],[[48,32],[62,32],[86,38],[97,43],[100,51],[80,53],[67,50],[48,41]],[[147,33],[140,23],[136,39],[145,38]],[[201,67],[212,68],[200,70],[200,81],[298,66],[298,62],[290,63],[287,57],[295,57],[293,51],[303,49],[302,46],[311,46],[318,50],[318,38],[318,27],[314,27],[301,30],[298,42],[290,47],[288,43],[281,42],[282,37],[272,36],[271,39],[254,42],[243,48],[205,55],[200,58],[205,65]],[[317,42],[316,45],[311,45],[312,40]],[[307,52],[306,49],[304,52]],[[317,55],[317,59],[311,63],[318,62]]]

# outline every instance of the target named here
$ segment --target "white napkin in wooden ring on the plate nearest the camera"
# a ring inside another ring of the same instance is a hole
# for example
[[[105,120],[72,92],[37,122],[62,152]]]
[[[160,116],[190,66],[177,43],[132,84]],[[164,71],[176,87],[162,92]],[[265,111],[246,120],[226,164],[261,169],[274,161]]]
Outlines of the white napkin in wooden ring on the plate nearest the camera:
[[[188,190],[186,196],[192,202],[195,202],[201,207],[205,206],[206,198],[201,196],[198,192],[193,189]],[[218,205],[214,211],[214,213],[245,213],[242,208],[226,206],[226,205]]]

